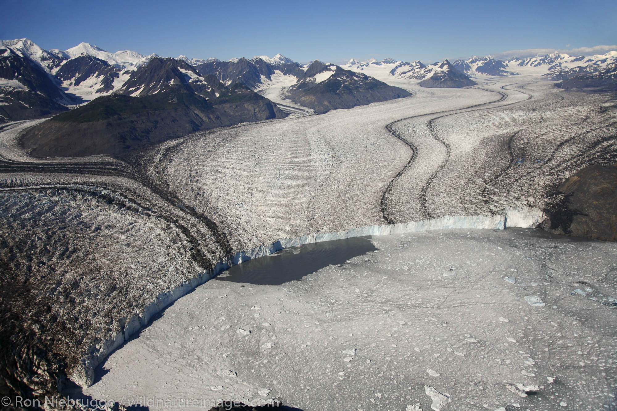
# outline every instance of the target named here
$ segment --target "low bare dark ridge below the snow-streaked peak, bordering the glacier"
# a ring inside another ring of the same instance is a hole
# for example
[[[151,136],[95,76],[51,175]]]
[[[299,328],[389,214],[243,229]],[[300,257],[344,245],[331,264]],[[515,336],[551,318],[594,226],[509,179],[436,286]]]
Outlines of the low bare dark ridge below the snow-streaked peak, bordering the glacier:
[[[241,85],[214,101],[181,90],[141,98],[112,94],[28,129],[22,144],[38,157],[121,157],[194,131],[279,117],[278,107]]]

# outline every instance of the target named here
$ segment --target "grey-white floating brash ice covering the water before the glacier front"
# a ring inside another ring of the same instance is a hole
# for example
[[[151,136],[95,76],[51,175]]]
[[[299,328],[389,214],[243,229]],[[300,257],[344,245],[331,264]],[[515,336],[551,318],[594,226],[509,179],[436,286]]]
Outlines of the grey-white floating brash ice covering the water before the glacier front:
[[[107,373],[85,394],[171,396],[173,376],[182,375],[188,396],[208,395],[202,381],[222,386],[211,391],[215,398],[260,397],[258,390],[267,386],[270,397],[307,411],[405,410],[416,403],[423,410],[509,410],[513,402],[523,410],[555,410],[560,401],[602,409],[614,401],[617,310],[571,297],[567,274],[586,275],[598,289],[614,288],[615,274],[607,274],[617,264],[614,244],[518,229],[427,231],[371,241],[379,252],[370,261],[360,255],[302,281],[199,286],[110,355]],[[494,243],[502,244],[499,260],[492,256]],[[528,252],[533,260],[525,258]],[[590,253],[603,257],[589,259]],[[542,285],[542,310],[526,303],[523,286],[505,286],[503,262],[516,267],[520,284],[543,277],[546,267],[554,270],[553,281]],[[403,264],[408,271],[400,269]],[[449,267],[460,274],[442,276]],[[356,293],[355,284],[367,292]],[[222,294],[228,297],[212,298]],[[260,318],[253,316],[257,305]],[[205,314],[211,312],[216,316]],[[210,330],[218,322],[232,327]],[[252,333],[236,334],[238,328]],[[582,374],[594,378],[580,384]],[[136,381],[138,388],[123,381]],[[434,388],[429,391],[436,402],[425,385]]]

